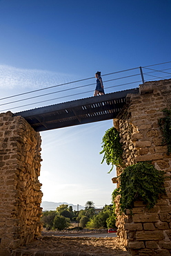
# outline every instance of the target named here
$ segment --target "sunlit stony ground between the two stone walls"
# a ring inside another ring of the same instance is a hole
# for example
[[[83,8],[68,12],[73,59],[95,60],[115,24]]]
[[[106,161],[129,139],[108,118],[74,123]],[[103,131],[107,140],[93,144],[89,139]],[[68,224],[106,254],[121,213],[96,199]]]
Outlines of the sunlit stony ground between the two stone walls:
[[[12,256],[128,256],[117,237],[43,236],[12,251]]]

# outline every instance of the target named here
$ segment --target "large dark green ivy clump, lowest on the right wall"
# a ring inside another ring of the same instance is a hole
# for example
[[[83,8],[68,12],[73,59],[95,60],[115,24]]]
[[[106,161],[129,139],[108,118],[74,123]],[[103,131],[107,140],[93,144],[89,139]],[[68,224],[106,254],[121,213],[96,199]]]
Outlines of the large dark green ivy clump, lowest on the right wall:
[[[149,162],[139,162],[125,168],[120,177],[120,186],[113,196],[121,195],[121,212],[132,210],[134,201],[143,201],[148,209],[153,208],[161,194],[165,194],[164,172]]]

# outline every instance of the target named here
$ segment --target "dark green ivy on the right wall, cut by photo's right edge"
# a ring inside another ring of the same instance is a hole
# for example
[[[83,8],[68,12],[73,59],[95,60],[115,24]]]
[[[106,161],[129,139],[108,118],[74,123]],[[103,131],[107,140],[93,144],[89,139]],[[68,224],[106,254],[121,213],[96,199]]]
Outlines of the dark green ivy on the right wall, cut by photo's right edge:
[[[164,118],[159,119],[159,126],[163,133],[163,144],[168,145],[168,155],[171,152],[171,109],[163,109]]]

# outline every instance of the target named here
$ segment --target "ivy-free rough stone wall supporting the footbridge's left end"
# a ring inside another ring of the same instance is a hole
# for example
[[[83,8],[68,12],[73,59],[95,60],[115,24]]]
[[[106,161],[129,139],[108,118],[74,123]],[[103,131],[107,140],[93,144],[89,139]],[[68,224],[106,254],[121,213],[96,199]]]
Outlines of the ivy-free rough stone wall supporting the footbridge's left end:
[[[0,255],[40,235],[41,138],[21,116],[0,114]]]

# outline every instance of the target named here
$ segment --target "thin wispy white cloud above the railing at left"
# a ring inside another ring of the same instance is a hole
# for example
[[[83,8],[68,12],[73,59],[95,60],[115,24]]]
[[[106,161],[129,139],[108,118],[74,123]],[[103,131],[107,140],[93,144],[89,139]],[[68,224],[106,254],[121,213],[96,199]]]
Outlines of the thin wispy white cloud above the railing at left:
[[[74,75],[56,73],[39,69],[16,68],[0,64],[0,87],[1,88],[34,88],[63,84],[74,80]]]

